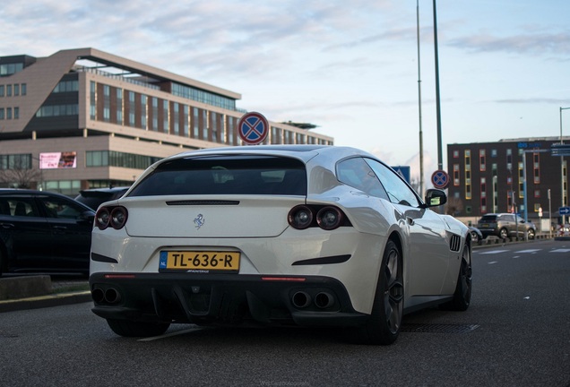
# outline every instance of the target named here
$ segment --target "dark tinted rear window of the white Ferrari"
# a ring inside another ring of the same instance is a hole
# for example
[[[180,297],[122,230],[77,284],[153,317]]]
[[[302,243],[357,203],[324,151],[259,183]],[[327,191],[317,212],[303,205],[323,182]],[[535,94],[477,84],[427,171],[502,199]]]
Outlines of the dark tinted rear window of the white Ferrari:
[[[160,164],[129,196],[171,194],[306,195],[307,172],[298,159],[271,156],[174,159]]]

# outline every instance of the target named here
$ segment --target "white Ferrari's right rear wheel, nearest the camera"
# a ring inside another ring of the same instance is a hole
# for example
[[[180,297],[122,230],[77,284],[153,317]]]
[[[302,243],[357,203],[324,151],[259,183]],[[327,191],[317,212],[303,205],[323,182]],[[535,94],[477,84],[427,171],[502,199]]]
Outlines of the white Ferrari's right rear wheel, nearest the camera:
[[[372,314],[365,325],[352,332],[353,339],[358,344],[373,345],[388,345],[398,339],[402,326],[403,295],[402,254],[390,240],[382,258]]]

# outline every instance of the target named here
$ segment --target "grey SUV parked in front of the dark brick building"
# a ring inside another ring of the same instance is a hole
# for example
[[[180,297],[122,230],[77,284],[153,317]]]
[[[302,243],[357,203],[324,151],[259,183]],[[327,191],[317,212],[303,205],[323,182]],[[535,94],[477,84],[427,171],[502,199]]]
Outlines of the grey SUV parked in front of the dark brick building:
[[[498,236],[505,239],[509,236],[527,236],[534,239],[536,226],[531,221],[524,221],[520,216],[512,213],[491,213],[483,215],[477,222],[477,228],[483,237]]]

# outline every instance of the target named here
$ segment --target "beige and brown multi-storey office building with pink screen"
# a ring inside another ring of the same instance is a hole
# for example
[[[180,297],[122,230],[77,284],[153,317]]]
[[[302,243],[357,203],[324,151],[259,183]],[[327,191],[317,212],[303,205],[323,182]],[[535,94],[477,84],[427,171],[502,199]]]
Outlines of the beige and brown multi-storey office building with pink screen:
[[[2,56],[0,186],[73,195],[130,185],[154,161],[181,151],[242,145],[239,99],[94,48]],[[264,143],[333,142],[307,130],[314,125],[269,125]]]

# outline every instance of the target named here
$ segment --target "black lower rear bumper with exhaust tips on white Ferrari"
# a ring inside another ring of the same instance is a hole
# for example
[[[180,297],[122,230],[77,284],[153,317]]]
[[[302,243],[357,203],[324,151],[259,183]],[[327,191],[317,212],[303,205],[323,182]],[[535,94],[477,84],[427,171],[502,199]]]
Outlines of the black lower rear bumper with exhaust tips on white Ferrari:
[[[111,273],[90,277],[94,314],[153,323],[358,326],[340,281],[320,276]]]

